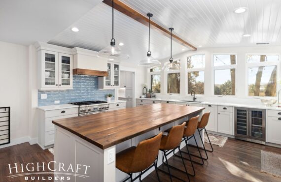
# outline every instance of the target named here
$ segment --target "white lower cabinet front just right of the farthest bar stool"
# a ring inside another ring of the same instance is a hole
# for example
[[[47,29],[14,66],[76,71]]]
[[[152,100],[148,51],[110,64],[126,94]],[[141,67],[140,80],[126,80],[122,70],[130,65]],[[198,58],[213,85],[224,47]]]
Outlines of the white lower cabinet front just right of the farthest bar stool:
[[[216,105],[211,105],[211,104],[204,104],[203,107],[205,107],[205,109],[203,110],[204,113],[208,113],[211,112],[210,114],[210,118],[208,121],[208,124],[206,126],[206,129],[209,131],[215,131],[217,132],[217,106]]]

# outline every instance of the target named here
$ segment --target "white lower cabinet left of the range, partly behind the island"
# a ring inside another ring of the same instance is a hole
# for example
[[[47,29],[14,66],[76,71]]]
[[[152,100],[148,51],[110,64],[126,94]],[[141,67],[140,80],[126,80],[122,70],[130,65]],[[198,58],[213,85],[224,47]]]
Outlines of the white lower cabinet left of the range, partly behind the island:
[[[55,140],[54,120],[78,116],[78,108],[43,111],[38,109],[38,144],[42,149],[53,146]]]

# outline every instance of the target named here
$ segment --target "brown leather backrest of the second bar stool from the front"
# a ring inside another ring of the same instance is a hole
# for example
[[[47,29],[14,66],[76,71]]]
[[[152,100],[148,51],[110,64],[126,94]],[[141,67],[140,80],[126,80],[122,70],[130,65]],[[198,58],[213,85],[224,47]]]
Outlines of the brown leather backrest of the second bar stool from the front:
[[[173,126],[169,132],[167,142],[165,144],[166,150],[175,149],[181,142],[184,127],[186,122],[183,122],[180,125]]]

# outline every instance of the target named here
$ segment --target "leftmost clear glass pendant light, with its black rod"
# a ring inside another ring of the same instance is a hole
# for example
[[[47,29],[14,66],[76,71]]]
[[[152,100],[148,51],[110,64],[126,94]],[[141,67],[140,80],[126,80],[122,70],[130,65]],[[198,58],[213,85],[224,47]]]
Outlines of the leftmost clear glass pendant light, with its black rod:
[[[106,58],[109,61],[113,60],[126,60],[129,58],[129,55],[124,54],[121,49],[115,45],[115,39],[113,38],[114,33],[114,2],[112,0],[112,39],[110,41],[110,45],[99,51],[98,57]]]

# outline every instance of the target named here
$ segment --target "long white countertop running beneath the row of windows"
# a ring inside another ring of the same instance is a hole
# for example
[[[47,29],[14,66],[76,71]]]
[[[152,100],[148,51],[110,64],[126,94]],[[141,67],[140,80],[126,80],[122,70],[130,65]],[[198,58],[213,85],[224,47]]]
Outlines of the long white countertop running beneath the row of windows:
[[[170,102],[182,102],[182,103],[194,103],[194,104],[211,104],[211,105],[219,105],[219,106],[233,106],[233,107],[246,107],[246,108],[255,108],[255,109],[271,109],[271,110],[280,110],[281,107],[278,107],[276,104],[273,106],[265,106],[262,104],[239,104],[239,103],[225,103],[225,102],[184,102],[182,100],[177,99],[161,99],[161,98],[137,98],[140,100],[158,100],[158,101],[170,101]]]

